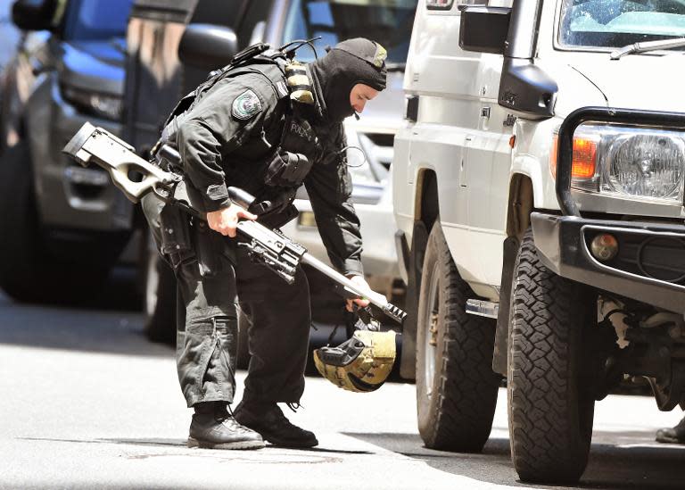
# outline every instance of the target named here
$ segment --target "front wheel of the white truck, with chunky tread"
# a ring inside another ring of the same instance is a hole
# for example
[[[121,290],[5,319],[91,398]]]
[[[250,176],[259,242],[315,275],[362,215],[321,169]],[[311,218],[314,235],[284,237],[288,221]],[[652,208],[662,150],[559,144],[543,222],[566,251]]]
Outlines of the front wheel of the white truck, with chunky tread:
[[[526,482],[575,482],[590,453],[595,400],[583,382],[583,336],[597,295],[541,263],[529,229],[509,308],[508,418],[511,455]]]

